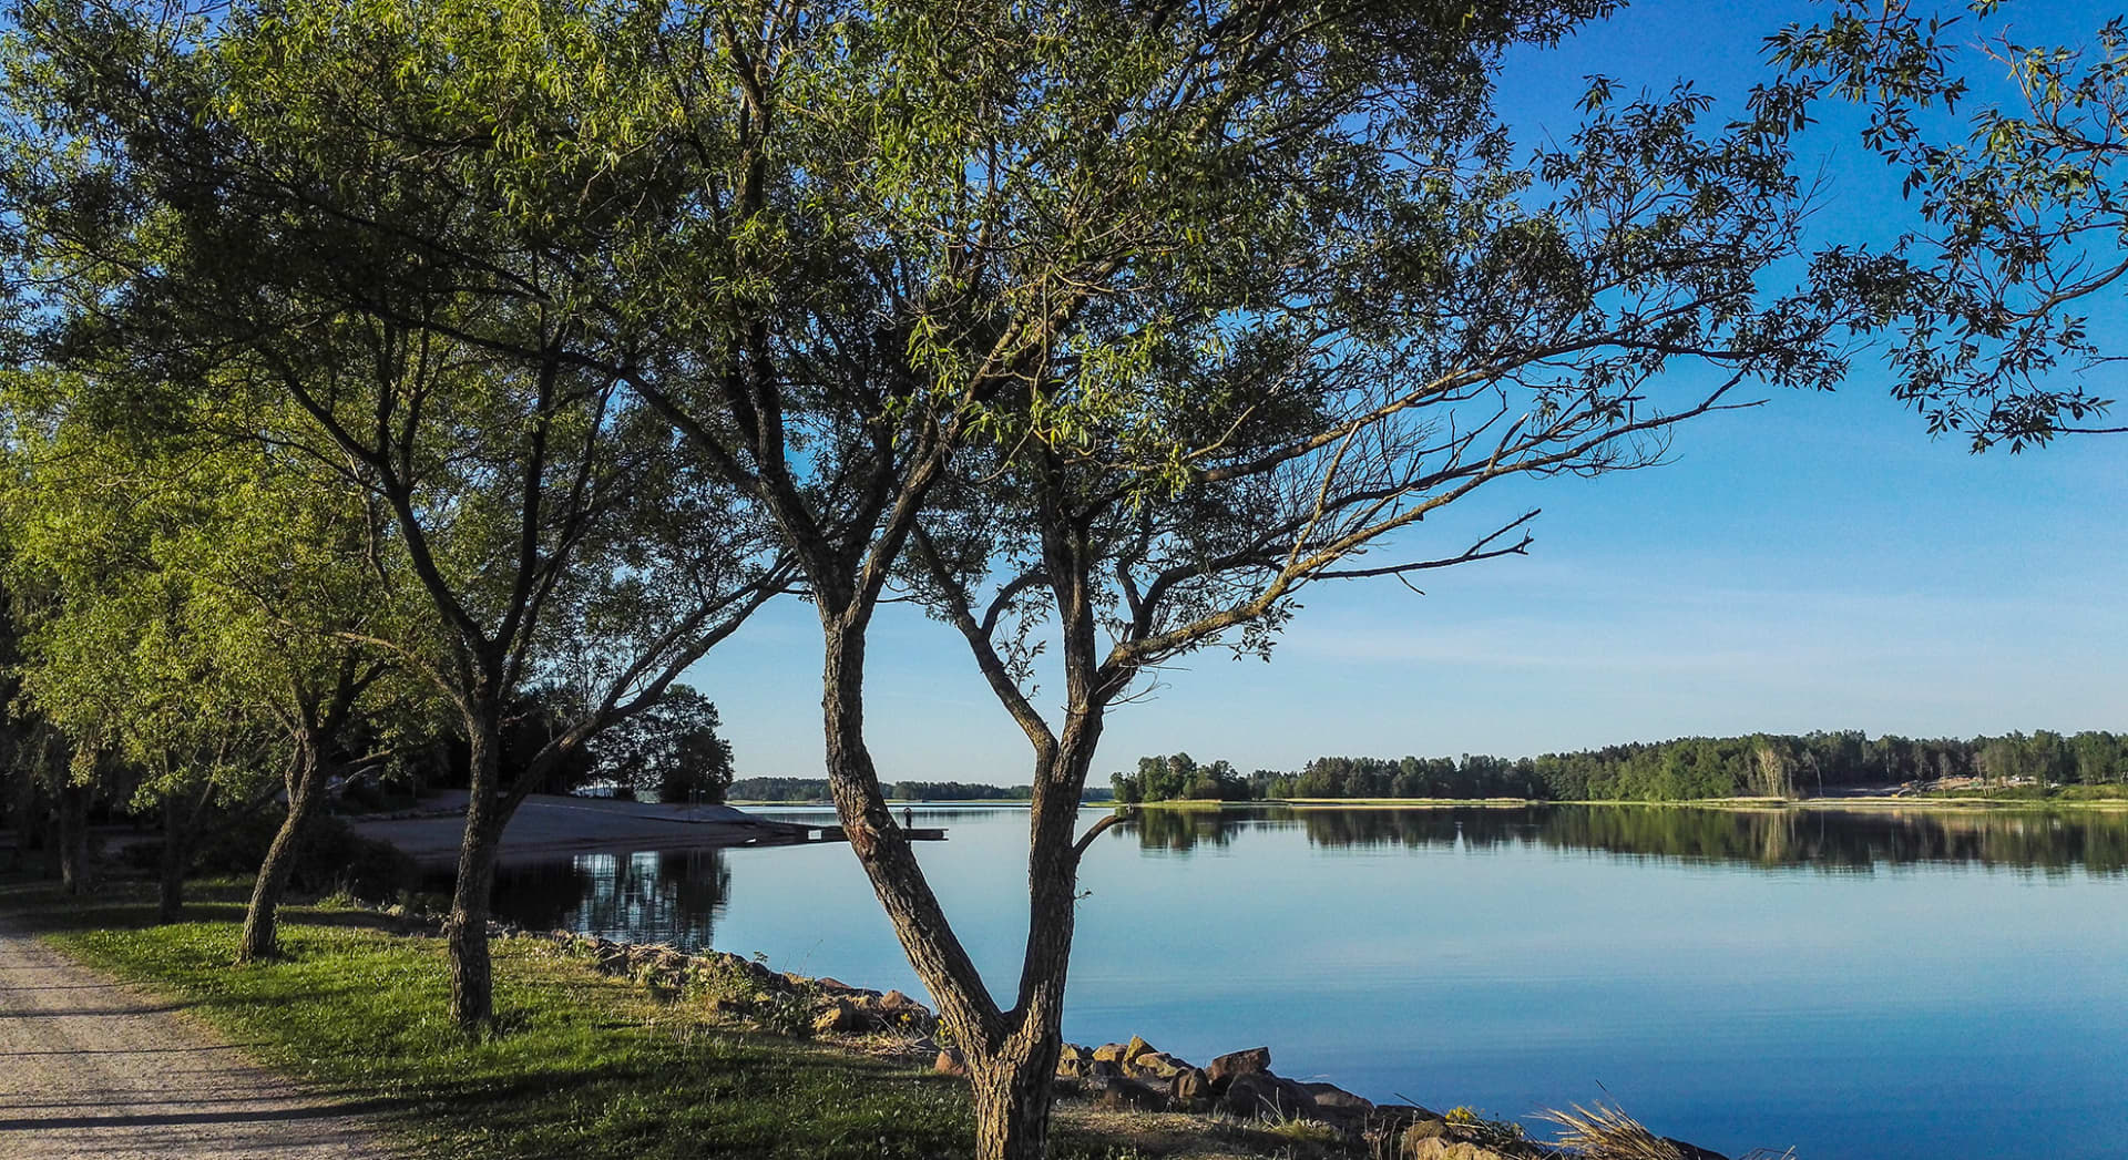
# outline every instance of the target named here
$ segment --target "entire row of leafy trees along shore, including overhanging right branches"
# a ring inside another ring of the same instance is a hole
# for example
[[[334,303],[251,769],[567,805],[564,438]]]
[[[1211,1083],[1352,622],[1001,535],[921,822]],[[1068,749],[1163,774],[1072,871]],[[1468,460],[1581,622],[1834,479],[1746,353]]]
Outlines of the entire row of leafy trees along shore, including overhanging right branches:
[[[206,811],[281,811],[264,956],[326,790],[447,736],[451,1013],[500,1032],[511,815],[802,596],[828,790],[977,1154],[1043,1156],[1077,807],[1156,673],[1268,653],[1315,585],[1524,553],[1545,481],[1871,345],[1975,449],[2102,430],[2117,34],[1996,45],[2028,106],[1966,119],[1947,26],[1836,0],[1747,89],[1592,77],[1517,138],[1513,62],[1617,9],[11,2],[15,817],[55,815],[81,888],[98,798],[160,815],[177,881]],[[1851,104],[1913,192],[1894,245],[1807,232],[1883,226],[1813,217],[1796,155]],[[1028,741],[998,988],[872,762],[883,602]]]

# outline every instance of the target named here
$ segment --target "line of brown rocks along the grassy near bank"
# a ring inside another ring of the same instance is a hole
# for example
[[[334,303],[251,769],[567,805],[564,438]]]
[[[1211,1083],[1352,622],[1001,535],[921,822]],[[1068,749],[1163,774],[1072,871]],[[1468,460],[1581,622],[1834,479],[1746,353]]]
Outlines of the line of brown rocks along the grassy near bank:
[[[615,943],[570,930],[545,934],[496,928],[500,937],[536,937],[579,956],[606,975],[630,977],[670,994],[700,994],[713,1011],[764,1030],[838,1041],[875,1054],[966,1075],[938,1017],[898,990],[877,992],[832,977],[807,977],[730,951],[683,954],[668,945]],[[1202,1066],[1158,1051],[1145,1039],[1085,1047],[1066,1043],[1058,1088],[1124,1111],[1224,1115],[1238,1122],[1311,1124],[1343,1137],[1358,1151],[1394,1160],[1536,1160],[1632,1156],[1634,1160],[1726,1160],[1717,1151],[1639,1130],[1636,1151],[1600,1143],[1556,1147],[1524,1139],[1515,1124],[1466,1109],[1436,1113],[1419,1105],[1377,1105],[1334,1083],[1302,1083],[1270,1071],[1270,1047],[1215,1056]]]

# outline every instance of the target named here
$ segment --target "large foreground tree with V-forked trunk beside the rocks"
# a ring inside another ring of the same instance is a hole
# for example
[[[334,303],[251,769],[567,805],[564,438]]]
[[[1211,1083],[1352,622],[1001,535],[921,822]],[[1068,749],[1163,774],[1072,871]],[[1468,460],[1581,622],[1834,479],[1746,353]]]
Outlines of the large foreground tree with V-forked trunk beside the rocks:
[[[1519,551],[1519,504],[1413,536],[1481,487],[1645,466],[1741,383],[1841,372],[1819,302],[1758,285],[1798,249],[1796,92],[1709,123],[1690,87],[1598,81],[1534,153],[1492,117],[1509,47],[1602,11],[675,9],[641,51],[677,128],[632,147],[698,177],[643,219],[660,260],[617,264],[613,302],[660,302],[649,332],[685,353],[617,370],[804,570],[830,790],[966,1051],[983,1156],[1045,1147],[1113,705],[1207,645],[1266,649],[1311,585]],[[896,585],[1032,749],[1004,1000],[866,743]]]

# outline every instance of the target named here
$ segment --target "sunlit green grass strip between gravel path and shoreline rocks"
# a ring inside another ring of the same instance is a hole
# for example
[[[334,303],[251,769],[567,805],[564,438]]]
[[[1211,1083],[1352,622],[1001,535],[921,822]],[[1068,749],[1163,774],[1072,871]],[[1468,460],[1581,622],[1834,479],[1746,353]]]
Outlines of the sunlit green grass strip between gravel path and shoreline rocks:
[[[447,1015],[443,943],[383,915],[296,907],[285,958],[232,966],[240,907],[147,926],[138,890],[0,888],[60,949],[179,998],[268,1064],[385,1117],[417,1156],[966,1156],[960,1081],[734,1030],[534,939],[494,943],[500,1030]]]

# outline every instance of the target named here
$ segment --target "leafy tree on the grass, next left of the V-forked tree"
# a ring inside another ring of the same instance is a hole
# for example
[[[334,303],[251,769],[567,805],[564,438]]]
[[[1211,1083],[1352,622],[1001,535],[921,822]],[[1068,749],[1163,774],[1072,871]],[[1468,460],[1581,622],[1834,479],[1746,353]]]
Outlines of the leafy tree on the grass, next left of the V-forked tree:
[[[428,604],[417,632],[364,639],[434,683],[470,747],[447,934],[453,1015],[483,1024],[511,813],[783,587],[747,496],[585,358],[626,336],[598,326],[594,270],[553,255],[630,204],[549,98],[602,40],[572,55],[472,6],[23,4],[15,23],[4,189],[34,355],[334,473]],[[592,115],[626,98],[594,87]],[[304,421],[260,434],[281,409]],[[504,783],[511,707],[555,683],[568,719]]]

